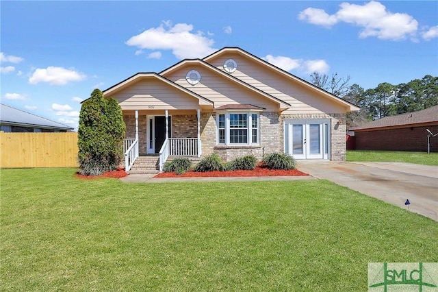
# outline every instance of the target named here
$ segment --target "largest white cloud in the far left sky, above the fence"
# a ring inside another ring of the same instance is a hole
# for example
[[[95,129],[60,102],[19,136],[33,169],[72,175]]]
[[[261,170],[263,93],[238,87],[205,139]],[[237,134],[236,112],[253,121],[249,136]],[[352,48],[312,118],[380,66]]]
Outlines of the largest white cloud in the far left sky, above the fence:
[[[86,75],[73,69],[48,66],[47,69],[36,69],[31,77],[29,77],[29,83],[38,84],[40,82],[47,82],[51,85],[65,85],[68,82],[81,81],[85,78]]]

